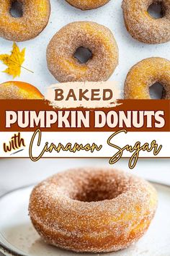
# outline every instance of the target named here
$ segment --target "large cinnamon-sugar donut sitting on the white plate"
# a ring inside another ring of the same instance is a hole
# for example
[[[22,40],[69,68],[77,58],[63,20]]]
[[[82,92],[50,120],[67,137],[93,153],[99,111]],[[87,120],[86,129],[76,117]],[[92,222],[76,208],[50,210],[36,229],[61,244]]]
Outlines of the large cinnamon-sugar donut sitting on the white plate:
[[[48,244],[75,252],[124,249],[147,231],[156,212],[151,184],[115,169],[55,174],[30,196],[30,218]]]

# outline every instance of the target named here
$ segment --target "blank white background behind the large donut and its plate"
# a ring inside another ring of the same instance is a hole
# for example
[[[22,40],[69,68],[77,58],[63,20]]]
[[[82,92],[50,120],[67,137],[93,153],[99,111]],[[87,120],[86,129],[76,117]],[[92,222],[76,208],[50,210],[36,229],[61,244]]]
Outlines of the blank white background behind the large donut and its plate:
[[[108,159],[0,159],[0,194],[27,184],[40,182],[59,171],[81,166],[106,166],[121,168],[132,174],[155,182],[170,184],[170,159],[140,159],[133,170],[128,168],[128,159],[109,165]]]

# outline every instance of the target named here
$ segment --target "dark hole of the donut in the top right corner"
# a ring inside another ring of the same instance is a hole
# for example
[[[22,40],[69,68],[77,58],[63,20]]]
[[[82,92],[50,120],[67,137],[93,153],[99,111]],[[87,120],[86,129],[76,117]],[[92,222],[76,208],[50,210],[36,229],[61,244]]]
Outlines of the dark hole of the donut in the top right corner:
[[[164,17],[164,8],[163,4],[157,1],[154,1],[153,4],[151,4],[148,7],[148,14],[151,15],[151,17],[155,19],[160,19]]]

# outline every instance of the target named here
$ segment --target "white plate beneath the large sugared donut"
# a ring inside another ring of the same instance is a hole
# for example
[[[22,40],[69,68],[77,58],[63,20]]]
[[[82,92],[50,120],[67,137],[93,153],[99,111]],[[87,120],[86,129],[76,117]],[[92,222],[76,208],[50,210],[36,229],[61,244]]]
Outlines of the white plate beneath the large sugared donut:
[[[159,203],[156,216],[139,242],[107,256],[169,256],[170,255],[170,187],[154,184]],[[0,251],[5,255],[78,256],[73,252],[51,247],[42,242],[28,216],[32,187],[14,190],[0,199]],[[83,254],[89,256],[90,254]],[[102,254],[103,255],[103,254]]]

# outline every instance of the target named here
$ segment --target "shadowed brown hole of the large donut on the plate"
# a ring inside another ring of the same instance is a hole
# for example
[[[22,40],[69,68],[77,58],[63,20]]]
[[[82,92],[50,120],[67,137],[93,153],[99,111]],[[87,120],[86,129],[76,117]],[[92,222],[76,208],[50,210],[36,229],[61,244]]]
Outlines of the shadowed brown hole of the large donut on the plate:
[[[81,202],[99,202],[112,200],[121,195],[126,190],[125,184],[117,182],[115,179],[93,178],[86,180],[81,187],[77,189],[76,195],[72,199]]]

